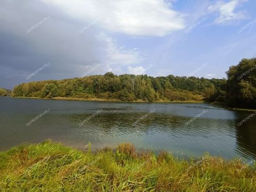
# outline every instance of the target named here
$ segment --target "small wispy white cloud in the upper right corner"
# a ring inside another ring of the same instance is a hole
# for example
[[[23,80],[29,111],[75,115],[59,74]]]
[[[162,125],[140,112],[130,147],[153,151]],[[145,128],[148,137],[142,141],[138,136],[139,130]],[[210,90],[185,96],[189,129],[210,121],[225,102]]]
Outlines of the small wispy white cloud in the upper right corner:
[[[218,18],[214,20],[216,24],[229,25],[234,21],[243,20],[247,18],[247,12],[245,10],[235,12],[236,7],[246,2],[247,0],[231,0],[228,3],[219,1],[208,7],[210,12],[218,11]]]

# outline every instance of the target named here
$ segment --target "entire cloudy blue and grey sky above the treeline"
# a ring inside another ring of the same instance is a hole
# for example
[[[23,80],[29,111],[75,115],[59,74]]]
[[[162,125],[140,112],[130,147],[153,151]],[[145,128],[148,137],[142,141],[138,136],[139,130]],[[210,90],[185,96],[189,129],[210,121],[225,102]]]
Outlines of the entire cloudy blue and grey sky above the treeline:
[[[0,87],[87,75],[224,78],[256,57],[255,0],[1,0]]]

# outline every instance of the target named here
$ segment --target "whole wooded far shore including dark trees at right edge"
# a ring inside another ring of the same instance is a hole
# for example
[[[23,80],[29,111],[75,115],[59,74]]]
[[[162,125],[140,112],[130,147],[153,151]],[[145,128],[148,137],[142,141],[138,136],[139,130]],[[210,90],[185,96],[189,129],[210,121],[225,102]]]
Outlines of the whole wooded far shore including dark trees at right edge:
[[[83,98],[117,101],[207,101],[230,107],[256,108],[256,58],[231,66],[227,78],[207,79],[148,75],[92,75],[82,78],[22,83],[14,97]]]

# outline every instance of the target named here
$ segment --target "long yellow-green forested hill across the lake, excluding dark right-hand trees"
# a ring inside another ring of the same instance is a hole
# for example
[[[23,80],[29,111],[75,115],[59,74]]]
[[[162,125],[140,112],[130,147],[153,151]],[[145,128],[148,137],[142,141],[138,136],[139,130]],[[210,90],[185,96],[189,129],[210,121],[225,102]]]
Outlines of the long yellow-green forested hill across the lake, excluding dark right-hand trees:
[[[61,81],[23,83],[13,90],[14,97],[72,97],[121,101],[202,101],[218,91],[223,79],[196,77],[150,77],[147,75],[105,75]]]

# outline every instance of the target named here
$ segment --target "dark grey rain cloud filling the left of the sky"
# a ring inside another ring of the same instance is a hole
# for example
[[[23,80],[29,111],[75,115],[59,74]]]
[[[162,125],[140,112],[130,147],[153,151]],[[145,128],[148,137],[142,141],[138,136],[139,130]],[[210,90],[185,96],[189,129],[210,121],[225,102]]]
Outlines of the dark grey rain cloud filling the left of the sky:
[[[0,15],[0,87],[12,89],[27,82],[26,77],[47,62],[51,65],[29,81],[81,76],[85,66],[101,63],[107,54],[107,44],[97,39],[96,29],[79,34],[84,23],[39,1],[3,0]]]

